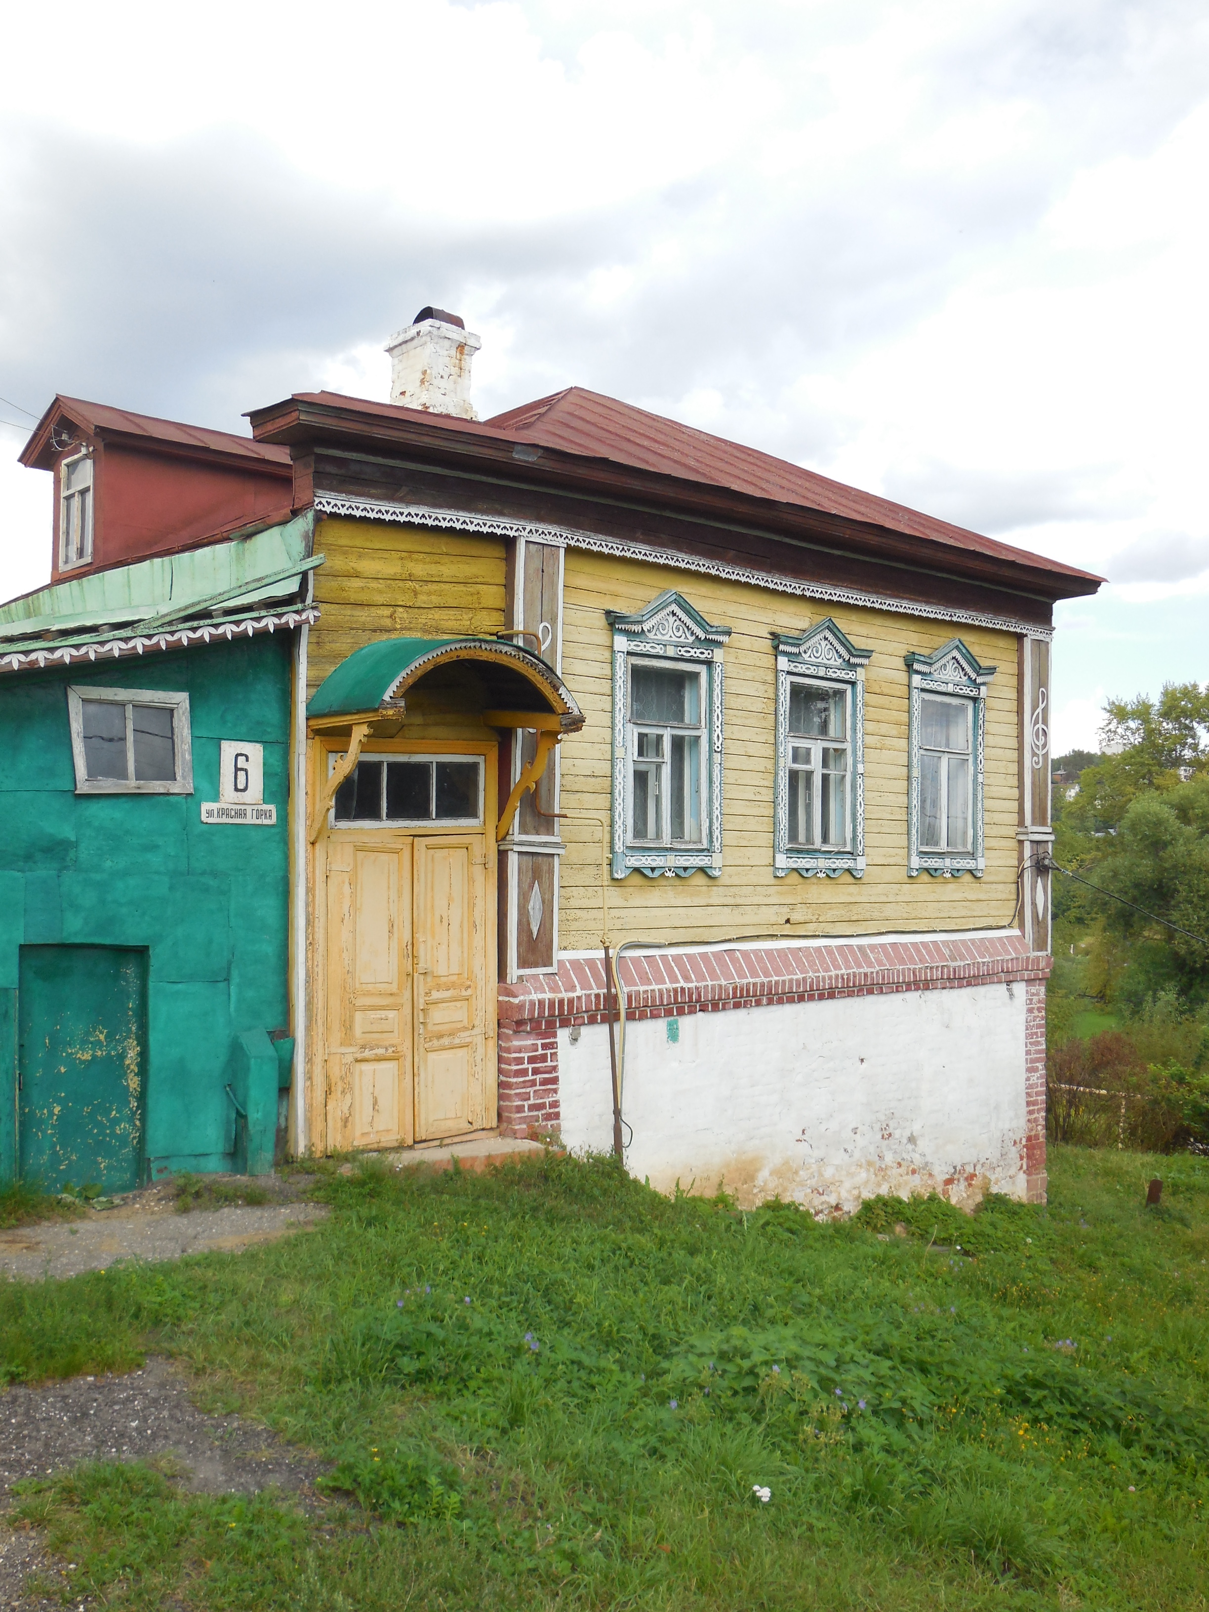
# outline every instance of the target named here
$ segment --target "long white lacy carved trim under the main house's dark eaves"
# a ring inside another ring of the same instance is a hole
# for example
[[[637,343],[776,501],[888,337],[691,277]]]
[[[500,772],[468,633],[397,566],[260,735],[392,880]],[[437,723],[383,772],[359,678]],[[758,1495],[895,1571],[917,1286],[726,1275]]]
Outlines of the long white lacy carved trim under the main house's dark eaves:
[[[832,604],[858,604],[864,609],[883,609],[898,616],[927,616],[930,621],[951,621],[967,627],[990,627],[998,632],[1014,632],[1020,638],[1043,638],[1048,642],[1054,635],[1053,627],[1017,621],[1014,616],[962,611],[948,604],[922,604],[917,600],[899,600],[887,593],[864,593],[861,588],[829,587],[824,582],[801,582],[796,577],[780,577],[774,571],[756,571],[753,566],[732,566],[722,559],[703,559],[698,555],[682,555],[675,548],[625,543],[614,537],[577,532],[574,527],[566,526],[545,526],[538,521],[469,514],[461,509],[434,509],[427,505],[388,503],[379,498],[345,498],[340,493],[316,493],[314,508],[319,514],[343,514],[353,521],[400,521],[411,526],[432,526],[447,532],[479,532],[485,537],[529,537],[538,543],[556,543],[561,548],[584,548],[593,555],[611,555],[617,559],[642,559],[651,566],[674,566],[679,571],[696,571],[703,575],[722,577],[725,582],[745,582],[751,587],[771,588],[774,593],[793,593],[798,598],[825,600]]]

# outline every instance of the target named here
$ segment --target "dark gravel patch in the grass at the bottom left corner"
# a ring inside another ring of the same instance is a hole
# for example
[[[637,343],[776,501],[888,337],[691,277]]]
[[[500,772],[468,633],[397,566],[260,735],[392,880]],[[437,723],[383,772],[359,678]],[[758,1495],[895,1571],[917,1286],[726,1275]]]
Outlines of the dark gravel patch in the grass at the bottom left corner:
[[[239,1415],[205,1415],[189,1398],[187,1377],[169,1361],[152,1357],[126,1377],[76,1377],[0,1394],[0,1510],[18,1478],[48,1477],[81,1460],[150,1457],[169,1457],[174,1481],[193,1493],[255,1494],[276,1486],[306,1512],[326,1504],[314,1489],[329,1470],[326,1462]],[[3,1612],[61,1607],[60,1597],[24,1594],[31,1575],[53,1583],[61,1570],[35,1531],[11,1530],[0,1519]]]

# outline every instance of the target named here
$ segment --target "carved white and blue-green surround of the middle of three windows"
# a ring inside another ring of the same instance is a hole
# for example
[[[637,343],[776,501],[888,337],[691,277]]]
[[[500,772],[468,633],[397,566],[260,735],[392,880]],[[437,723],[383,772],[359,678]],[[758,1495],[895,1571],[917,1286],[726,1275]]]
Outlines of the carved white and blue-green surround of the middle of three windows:
[[[774,632],[777,656],[777,780],[772,811],[772,872],[777,879],[864,877],[864,669],[872,650],[858,650],[830,616],[801,634]],[[848,848],[790,845],[790,688],[793,683],[848,690]]]

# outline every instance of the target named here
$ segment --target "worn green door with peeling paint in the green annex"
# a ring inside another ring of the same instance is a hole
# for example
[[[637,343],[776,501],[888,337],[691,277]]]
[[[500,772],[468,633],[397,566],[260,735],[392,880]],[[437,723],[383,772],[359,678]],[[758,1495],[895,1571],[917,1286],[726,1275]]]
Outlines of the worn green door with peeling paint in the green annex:
[[[147,953],[23,946],[21,1178],[61,1191],[139,1185],[147,1069]]]

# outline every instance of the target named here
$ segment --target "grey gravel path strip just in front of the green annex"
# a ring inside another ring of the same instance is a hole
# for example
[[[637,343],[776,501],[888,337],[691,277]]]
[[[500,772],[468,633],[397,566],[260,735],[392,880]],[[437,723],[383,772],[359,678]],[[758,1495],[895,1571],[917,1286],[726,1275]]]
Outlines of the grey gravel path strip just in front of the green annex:
[[[47,1220],[0,1232],[0,1275],[10,1282],[76,1277],[81,1270],[105,1270],[119,1259],[179,1259],[213,1249],[237,1253],[314,1225],[326,1214],[324,1204],[308,1203],[195,1209],[192,1214],[176,1214],[171,1199],[155,1206],[123,1203],[116,1209],[92,1209],[81,1220]]]

